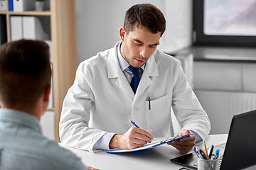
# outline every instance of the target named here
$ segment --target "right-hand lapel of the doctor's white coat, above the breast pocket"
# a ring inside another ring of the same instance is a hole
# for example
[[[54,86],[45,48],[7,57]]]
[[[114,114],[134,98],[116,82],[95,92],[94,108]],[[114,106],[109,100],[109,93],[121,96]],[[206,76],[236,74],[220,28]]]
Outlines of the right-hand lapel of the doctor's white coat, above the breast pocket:
[[[142,78],[139,81],[139,86],[136,91],[136,96],[139,96],[144,93],[146,88],[152,83],[151,77],[159,76],[158,68],[156,61],[154,60],[154,55],[152,55],[149,60],[146,62],[146,67],[142,74]]]

